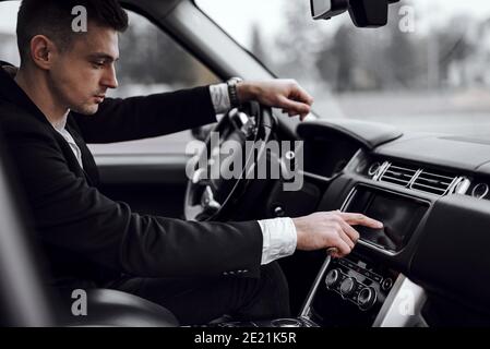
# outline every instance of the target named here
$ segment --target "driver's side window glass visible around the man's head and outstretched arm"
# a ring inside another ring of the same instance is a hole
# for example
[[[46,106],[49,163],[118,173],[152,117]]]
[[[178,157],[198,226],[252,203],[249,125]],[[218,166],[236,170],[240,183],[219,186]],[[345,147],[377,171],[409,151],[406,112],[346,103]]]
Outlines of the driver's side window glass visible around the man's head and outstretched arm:
[[[15,25],[20,1],[0,2],[0,60],[19,65]],[[130,97],[217,83],[219,80],[146,17],[128,11],[130,26],[120,35],[111,97]],[[189,116],[192,118],[193,116]],[[92,144],[94,154],[183,154],[190,131],[115,144]]]

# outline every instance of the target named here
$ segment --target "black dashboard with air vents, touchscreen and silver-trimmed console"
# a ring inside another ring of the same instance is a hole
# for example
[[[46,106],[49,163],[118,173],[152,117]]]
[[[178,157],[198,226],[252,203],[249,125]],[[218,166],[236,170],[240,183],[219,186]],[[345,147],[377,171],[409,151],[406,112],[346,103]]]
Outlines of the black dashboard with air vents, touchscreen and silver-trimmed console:
[[[324,261],[303,322],[490,324],[489,141],[349,120],[301,123],[297,135],[307,193],[271,202],[286,215],[314,203],[313,210],[364,213],[385,225],[359,228],[351,254]]]

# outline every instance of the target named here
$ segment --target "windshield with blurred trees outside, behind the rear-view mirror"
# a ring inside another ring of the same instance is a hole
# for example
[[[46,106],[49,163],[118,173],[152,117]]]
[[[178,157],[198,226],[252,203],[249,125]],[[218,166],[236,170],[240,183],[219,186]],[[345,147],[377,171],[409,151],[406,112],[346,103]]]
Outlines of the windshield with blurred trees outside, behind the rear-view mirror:
[[[313,95],[321,118],[490,139],[490,2],[413,0],[389,25],[347,13],[313,21],[308,0],[195,0],[277,76]]]

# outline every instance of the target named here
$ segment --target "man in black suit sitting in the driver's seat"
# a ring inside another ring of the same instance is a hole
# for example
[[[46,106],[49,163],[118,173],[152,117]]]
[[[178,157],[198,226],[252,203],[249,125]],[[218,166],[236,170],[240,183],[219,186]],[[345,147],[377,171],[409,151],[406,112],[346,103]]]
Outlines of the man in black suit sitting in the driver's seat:
[[[80,4],[88,10],[86,33],[71,28],[71,10]],[[118,33],[127,25],[116,0],[24,0],[17,21],[21,68],[13,79],[0,69],[0,128],[56,286],[128,291],[170,309],[186,324],[223,314],[289,315],[286,280],[271,262],[295,249],[335,248],[343,256],[359,237],[351,225],[380,222],[340,213],[190,222],[142,216],[99,193],[85,142],[152,137],[212,123],[223,108],[217,101],[229,98],[226,85],[105,98],[118,85]],[[291,81],[243,82],[235,88],[240,101],[256,99],[291,116],[304,116],[312,103]]]

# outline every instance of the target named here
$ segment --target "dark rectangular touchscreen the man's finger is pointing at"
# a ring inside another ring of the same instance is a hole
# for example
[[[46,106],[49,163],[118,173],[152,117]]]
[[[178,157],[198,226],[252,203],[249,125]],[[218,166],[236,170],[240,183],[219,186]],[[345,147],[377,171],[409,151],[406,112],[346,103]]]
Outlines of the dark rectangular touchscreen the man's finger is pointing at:
[[[382,229],[358,226],[360,238],[382,249],[402,250],[419,225],[429,205],[414,197],[361,186],[357,189],[348,212],[363,213],[381,220]]]

